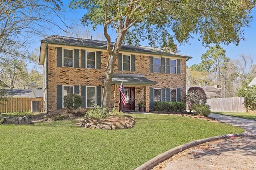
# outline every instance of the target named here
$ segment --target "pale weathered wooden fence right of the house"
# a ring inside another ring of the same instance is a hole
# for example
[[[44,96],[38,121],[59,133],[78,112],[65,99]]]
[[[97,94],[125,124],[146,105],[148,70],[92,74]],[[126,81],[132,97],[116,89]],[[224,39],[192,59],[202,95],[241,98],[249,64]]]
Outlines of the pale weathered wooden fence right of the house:
[[[211,106],[211,111],[246,112],[246,103],[241,97],[207,99],[206,104]]]

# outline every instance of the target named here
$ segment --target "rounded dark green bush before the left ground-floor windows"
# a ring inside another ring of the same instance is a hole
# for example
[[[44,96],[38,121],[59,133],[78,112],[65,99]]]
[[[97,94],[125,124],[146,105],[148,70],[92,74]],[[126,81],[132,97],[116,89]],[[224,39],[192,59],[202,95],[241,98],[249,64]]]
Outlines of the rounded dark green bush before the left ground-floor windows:
[[[79,94],[67,94],[63,98],[63,105],[68,108],[68,112],[78,109],[82,106],[82,97]]]

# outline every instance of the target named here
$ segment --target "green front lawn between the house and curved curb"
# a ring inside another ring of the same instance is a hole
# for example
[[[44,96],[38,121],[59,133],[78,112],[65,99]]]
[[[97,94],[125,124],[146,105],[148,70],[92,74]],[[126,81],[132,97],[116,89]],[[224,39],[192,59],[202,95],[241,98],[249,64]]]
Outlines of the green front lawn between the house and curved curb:
[[[132,129],[75,127],[74,120],[0,125],[0,169],[133,170],[176,146],[243,129],[177,115],[132,114]]]

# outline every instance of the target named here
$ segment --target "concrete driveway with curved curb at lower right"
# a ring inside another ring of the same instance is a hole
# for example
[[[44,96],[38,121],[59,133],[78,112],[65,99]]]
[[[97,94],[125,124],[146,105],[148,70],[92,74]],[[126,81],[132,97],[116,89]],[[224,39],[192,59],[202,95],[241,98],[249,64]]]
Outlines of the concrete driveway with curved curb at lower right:
[[[222,135],[184,144],[186,146],[181,145],[156,156],[136,170],[151,169],[150,164],[159,161],[163,156],[170,157],[170,154],[176,152],[177,149],[180,149],[180,152],[172,154],[170,158],[165,158],[167,160],[160,162],[152,170],[256,169],[256,121],[213,113],[210,117],[222,123],[241,127],[246,132],[235,134],[232,138]]]

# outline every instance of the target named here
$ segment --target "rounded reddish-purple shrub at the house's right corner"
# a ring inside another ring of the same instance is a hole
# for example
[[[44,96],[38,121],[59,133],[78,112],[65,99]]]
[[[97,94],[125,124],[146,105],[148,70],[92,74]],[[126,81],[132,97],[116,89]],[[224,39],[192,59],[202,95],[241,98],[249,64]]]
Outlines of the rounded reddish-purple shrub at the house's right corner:
[[[196,104],[206,104],[207,97],[204,89],[201,87],[190,87],[186,95],[186,102],[190,111]]]

